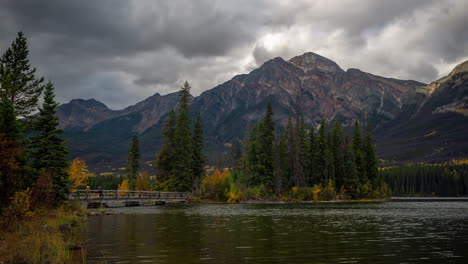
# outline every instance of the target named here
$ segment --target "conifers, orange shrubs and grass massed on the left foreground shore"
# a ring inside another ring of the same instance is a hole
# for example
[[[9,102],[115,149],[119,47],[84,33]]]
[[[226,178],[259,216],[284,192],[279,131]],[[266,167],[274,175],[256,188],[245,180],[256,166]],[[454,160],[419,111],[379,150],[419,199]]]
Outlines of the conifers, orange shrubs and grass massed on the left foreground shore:
[[[20,32],[0,58],[0,263],[84,262],[71,251],[84,213],[66,201],[83,174],[70,170],[54,86],[28,55]]]

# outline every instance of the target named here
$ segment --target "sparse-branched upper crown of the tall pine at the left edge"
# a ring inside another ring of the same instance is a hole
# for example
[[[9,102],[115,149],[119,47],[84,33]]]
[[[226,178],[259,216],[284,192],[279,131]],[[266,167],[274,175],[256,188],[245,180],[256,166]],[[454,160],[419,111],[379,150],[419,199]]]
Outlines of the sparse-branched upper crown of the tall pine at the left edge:
[[[35,110],[44,89],[44,78],[36,79],[28,55],[26,38],[19,32],[0,58],[0,101],[9,101],[15,116],[26,117]]]

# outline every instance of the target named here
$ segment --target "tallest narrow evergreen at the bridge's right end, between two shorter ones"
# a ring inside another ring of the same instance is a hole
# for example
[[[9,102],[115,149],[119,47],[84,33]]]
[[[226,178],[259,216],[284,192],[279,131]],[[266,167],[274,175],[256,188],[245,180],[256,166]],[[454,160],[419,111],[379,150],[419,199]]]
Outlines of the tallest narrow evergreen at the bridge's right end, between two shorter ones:
[[[179,109],[174,129],[174,151],[177,159],[173,161],[168,188],[188,192],[193,187],[193,138],[190,128],[190,85],[184,83],[179,91]]]

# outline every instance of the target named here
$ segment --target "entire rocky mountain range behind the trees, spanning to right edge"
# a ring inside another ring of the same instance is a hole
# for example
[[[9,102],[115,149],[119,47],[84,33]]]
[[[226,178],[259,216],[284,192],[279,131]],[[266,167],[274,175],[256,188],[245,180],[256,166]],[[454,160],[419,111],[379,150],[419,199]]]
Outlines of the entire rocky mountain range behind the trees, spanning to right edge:
[[[379,133],[376,143],[382,158],[425,159],[430,155],[408,153],[400,158],[397,146],[402,146],[406,138],[400,131],[414,127],[414,133],[426,133],[425,126],[415,126],[410,121],[413,119],[444,124],[456,119],[466,125],[467,85],[462,80],[467,77],[465,64],[426,85],[358,69],[344,71],[325,57],[305,53],[289,61],[274,58],[249,74],[235,76],[193,98],[191,107],[193,115],[202,115],[207,153],[212,157],[227,151],[225,143],[241,140],[249,127],[261,119],[266,104],[272,102],[280,129],[289,115],[302,115],[314,127],[322,118],[338,119],[345,126],[356,119],[370,120]],[[107,166],[123,167],[132,133],[140,134],[142,159],[153,160],[162,144],[165,116],[176,108],[177,99],[176,93],[155,94],[118,111],[95,100],[72,100],[58,108],[58,116],[72,153],[86,159],[91,167],[105,170]],[[448,115],[455,119],[439,120]],[[447,138],[445,134],[439,136]],[[463,151],[468,152],[466,148]]]

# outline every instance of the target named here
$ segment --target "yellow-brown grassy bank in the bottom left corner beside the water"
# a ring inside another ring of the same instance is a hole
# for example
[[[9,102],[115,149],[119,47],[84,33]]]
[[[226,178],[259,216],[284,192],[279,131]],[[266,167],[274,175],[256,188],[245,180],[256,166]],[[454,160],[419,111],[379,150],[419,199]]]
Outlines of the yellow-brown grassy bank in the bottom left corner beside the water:
[[[77,231],[86,211],[75,204],[1,219],[0,263],[86,263]]]

